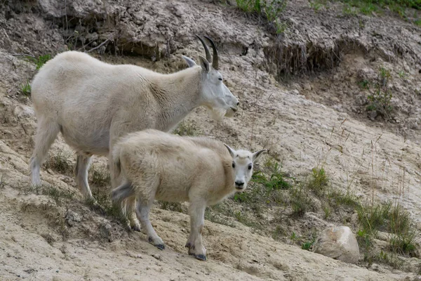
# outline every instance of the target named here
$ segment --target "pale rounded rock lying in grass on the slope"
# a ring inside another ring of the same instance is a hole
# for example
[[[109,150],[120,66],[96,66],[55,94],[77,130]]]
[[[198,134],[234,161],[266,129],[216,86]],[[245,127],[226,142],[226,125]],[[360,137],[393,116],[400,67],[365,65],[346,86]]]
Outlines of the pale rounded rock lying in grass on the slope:
[[[313,251],[347,263],[356,263],[359,259],[358,242],[347,226],[333,226],[323,230],[314,243]]]

